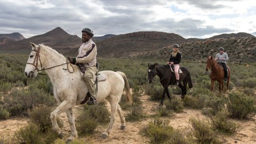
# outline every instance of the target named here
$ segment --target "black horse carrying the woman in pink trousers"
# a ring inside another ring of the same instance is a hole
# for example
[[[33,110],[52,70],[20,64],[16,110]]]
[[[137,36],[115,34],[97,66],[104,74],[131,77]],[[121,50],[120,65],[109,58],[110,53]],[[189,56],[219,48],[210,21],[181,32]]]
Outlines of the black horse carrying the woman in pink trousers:
[[[152,83],[153,78],[158,75],[160,78],[160,83],[163,85],[164,90],[162,94],[162,99],[160,105],[163,105],[163,100],[165,94],[168,96],[168,98],[171,100],[168,86],[174,85],[176,82],[175,73],[171,72],[170,65],[158,65],[158,63],[155,64],[147,64],[148,65],[148,83]],[[182,89],[182,98],[187,94],[187,84],[189,88],[193,87],[192,80],[190,77],[190,73],[188,69],[184,67],[180,67],[180,70],[182,70],[182,73],[180,73],[180,84],[178,85]],[[183,82],[183,84],[182,84]]]

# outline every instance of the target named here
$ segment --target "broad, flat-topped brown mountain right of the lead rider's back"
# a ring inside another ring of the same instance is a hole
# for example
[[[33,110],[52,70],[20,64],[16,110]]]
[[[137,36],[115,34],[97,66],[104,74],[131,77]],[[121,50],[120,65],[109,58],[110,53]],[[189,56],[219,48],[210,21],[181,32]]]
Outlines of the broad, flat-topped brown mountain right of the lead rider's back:
[[[187,42],[185,38],[173,33],[134,32],[112,36],[96,43],[98,57],[125,58],[129,55],[156,50],[174,43]]]

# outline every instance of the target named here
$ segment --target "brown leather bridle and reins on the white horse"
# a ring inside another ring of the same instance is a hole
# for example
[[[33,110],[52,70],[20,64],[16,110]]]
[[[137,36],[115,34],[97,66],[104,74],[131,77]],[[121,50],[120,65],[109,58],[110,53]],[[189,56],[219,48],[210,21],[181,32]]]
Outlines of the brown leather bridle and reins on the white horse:
[[[55,65],[55,66],[52,66],[52,67],[49,67],[49,68],[42,69],[42,62],[41,62],[40,55],[39,55],[40,48],[41,48],[41,47],[38,46],[37,50],[32,49],[32,51],[36,51],[37,53],[36,53],[34,62],[33,62],[33,63],[27,62],[27,64],[32,64],[34,67],[36,67],[36,70],[37,70],[38,72],[39,72],[39,71],[49,70],[49,69],[51,69],[51,68],[55,68],[55,67],[58,67],[58,66],[67,64],[67,69],[68,69],[68,71],[69,71],[69,68],[68,68],[68,63],[69,63],[69,62],[68,62],[68,59],[66,59],[66,60],[67,60],[66,63],[62,63],[62,64],[59,64],[59,65]],[[38,60],[39,60],[40,65],[41,65],[41,69],[40,69],[40,70],[39,70],[38,67],[37,67],[37,66],[38,66]],[[72,67],[72,68],[73,68],[73,67]],[[64,69],[64,70],[65,70],[65,69]],[[70,71],[69,71],[69,72],[70,72]],[[74,72],[74,68],[73,68],[73,72]],[[70,73],[73,73],[73,72],[70,72]],[[38,74],[42,74],[42,73],[38,73]],[[47,74],[42,74],[42,75],[47,75]]]

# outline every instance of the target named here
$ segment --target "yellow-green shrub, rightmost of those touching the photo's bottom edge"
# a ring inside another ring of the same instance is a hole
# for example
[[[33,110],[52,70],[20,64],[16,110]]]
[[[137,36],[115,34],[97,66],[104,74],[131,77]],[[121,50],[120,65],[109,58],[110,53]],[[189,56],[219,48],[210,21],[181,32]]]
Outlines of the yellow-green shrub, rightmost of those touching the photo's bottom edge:
[[[219,144],[219,139],[217,134],[210,129],[209,123],[204,120],[196,120],[195,118],[190,118],[188,134],[191,134],[195,137],[196,141],[202,144]]]

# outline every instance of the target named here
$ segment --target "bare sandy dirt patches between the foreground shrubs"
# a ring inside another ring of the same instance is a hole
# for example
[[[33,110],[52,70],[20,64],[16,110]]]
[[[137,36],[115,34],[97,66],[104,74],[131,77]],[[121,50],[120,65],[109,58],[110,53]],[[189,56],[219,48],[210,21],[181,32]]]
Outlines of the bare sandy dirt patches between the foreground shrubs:
[[[143,107],[148,115],[154,114],[152,108],[158,106],[158,102],[152,102],[148,100],[149,96],[142,95]],[[110,107],[107,104],[108,107]],[[74,114],[77,115],[83,106],[76,106],[74,108]],[[122,111],[125,115],[128,111]],[[170,118],[170,125],[174,129],[186,129],[190,124],[189,118],[194,117],[197,119],[207,118],[202,114],[201,110],[197,109],[184,109],[182,113],[175,113]],[[59,118],[63,121],[64,127],[62,128],[64,137],[63,140],[67,140],[70,136],[70,127],[65,113],[62,113]],[[1,135],[13,135],[19,128],[27,124],[27,118],[12,118],[9,120],[0,120],[0,134]],[[229,135],[219,135],[219,139],[224,144],[256,144],[256,116],[251,120],[233,120],[236,123],[242,125],[242,130]],[[146,124],[150,121],[150,118],[144,119],[138,122],[126,122],[126,128],[120,130],[121,122],[119,116],[116,117],[113,129],[108,138],[100,138],[101,133],[104,132],[108,125],[98,126],[97,132],[91,136],[80,136],[80,140],[83,140],[88,144],[149,144],[148,137],[142,136],[139,132],[146,127]]]

